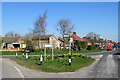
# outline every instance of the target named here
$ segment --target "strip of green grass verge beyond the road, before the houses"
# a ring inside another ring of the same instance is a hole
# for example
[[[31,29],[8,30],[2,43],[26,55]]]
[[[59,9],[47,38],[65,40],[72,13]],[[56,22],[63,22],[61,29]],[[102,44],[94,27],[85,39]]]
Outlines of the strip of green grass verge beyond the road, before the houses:
[[[104,50],[100,50],[100,49],[96,49],[96,50],[82,50],[82,51],[72,51],[72,53],[91,53],[91,52],[101,52],[101,51],[105,51]],[[23,51],[17,51],[18,55],[22,55]],[[46,52],[47,54],[52,54],[51,50],[47,50]],[[69,50],[54,50],[54,55],[56,54],[67,54],[69,53]],[[2,51],[2,55],[15,55],[16,51]],[[28,53],[29,55],[40,55],[40,54],[44,54],[44,51],[41,52],[30,52]]]

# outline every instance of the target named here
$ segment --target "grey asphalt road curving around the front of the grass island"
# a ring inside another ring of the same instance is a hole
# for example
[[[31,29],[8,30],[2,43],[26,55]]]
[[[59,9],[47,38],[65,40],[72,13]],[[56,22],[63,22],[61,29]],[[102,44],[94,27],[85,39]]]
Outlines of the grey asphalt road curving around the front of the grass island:
[[[76,72],[46,73],[34,71],[16,64],[3,56],[2,77],[3,78],[118,78],[118,55],[116,51],[105,51],[99,53],[85,53],[85,55],[96,58],[96,61]]]

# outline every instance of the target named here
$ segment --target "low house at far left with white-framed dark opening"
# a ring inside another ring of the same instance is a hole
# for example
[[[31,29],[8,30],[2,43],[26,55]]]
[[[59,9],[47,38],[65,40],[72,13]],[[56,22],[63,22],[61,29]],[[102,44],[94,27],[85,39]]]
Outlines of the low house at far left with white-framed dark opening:
[[[26,44],[23,41],[23,37],[2,37],[1,49],[23,49]]]

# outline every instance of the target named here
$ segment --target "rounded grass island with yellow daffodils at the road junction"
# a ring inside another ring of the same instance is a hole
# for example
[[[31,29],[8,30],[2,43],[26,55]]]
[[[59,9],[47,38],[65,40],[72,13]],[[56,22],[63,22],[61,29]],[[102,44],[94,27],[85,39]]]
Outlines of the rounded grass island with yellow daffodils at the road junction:
[[[54,60],[51,60],[51,56],[47,57],[47,61],[43,61],[43,65],[40,66],[39,57],[29,57],[28,60],[25,57],[10,58],[18,64],[25,66],[30,69],[43,72],[74,72],[80,68],[89,66],[95,59],[82,55],[73,55],[72,64],[69,66],[68,55],[64,57],[55,56]]]

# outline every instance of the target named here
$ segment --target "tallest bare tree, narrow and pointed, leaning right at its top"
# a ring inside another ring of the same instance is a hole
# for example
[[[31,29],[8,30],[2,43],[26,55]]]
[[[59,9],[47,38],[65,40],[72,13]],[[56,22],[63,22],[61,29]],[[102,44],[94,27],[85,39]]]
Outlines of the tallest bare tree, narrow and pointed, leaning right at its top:
[[[40,48],[40,36],[45,34],[46,26],[47,26],[47,10],[43,14],[43,16],[39,16],[36,22],[34,23],[33,34],[39,35],[39,48]]]

